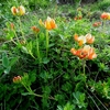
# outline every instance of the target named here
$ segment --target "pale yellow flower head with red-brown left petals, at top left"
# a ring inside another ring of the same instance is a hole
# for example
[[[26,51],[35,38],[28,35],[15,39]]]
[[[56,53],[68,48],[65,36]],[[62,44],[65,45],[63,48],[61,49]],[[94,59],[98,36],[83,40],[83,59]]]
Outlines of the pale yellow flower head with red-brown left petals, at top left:
[[[12,7],[11,12],[13,15],[24,15],[25,14],[25,8],[23,6],[20,6],[19,8]]]

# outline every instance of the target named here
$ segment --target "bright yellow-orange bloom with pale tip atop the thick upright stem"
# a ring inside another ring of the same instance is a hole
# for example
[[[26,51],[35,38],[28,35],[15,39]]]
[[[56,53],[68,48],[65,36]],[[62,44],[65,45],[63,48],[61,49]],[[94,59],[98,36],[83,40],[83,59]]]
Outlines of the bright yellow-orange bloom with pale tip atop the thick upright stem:
[[[44,26],[45,26],[47,30],[55,29],[55,28],[56,28],[55,20],[54,20],[54,19],[51,19],[50,16],[47,16],[46,21],[44,22]]]

